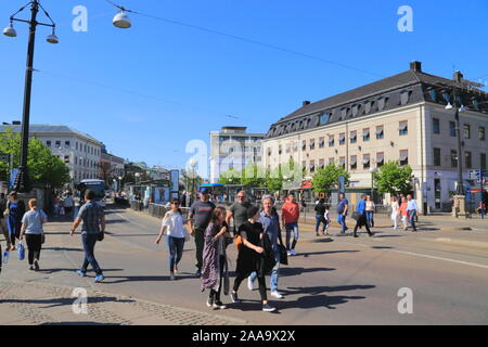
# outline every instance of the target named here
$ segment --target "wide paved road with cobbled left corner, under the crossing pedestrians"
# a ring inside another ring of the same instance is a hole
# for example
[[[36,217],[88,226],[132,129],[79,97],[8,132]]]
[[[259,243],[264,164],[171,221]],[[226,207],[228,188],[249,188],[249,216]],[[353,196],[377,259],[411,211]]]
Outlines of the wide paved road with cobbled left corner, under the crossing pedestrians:
[[[209,310],[205,306],[207,293],[201,292],[201,281],[192,275],[193,242],[185,245],[180,266],[182,273],[177,281],[169,281],[166,247],[154,244],[159,221],[121,208],[110,208],[107,218],[108,234],[97,248],[98,259],[106,269],[104,283],[94,285],[92,273],[88,279],[73,274],[82,257],[79,235],[69,236],[66,223],[51,223],[41,261],[47,270],[29,272],[25,270],[26,264],[16,259],[4,268],[0,324],[5,309],[11,311],[12,308],[21,313],[11,321],[26,322],[25,317],[33,316],[27,314],[26,309],[33,305],[37,305],[40,317],[30,319],[30,323],[42,320],[119,324],[488,323],[488,233],[483,230],[447,230],[426,221],[418,233],[394,232],[386,222],[384,226],[378,222],[380,228],[372,239],[361,234],[360,239],[334,236],[333,242],[299,243],[298,255],[282,268],[280,288],[286,297],[270,298],[279,311],[265,313],[260,311],[258,292],[249,292],[245,283],[240,290],[243,304],[230,304],[226,310]],[[309,226],[303,229],[304,241],[317,241],[314,233],[308,231]],[[336,232],[333,228],[332,233]],[[231,268],[234,268],[233,245],[229,247],[229,255]],[[51,301],[56,295],[64,298],[56,301],[64,316],[60,319],[61,313],[52,312],[46,313],[50,320],[42,318],[42,312],[48,310],[42,306],[46,303],[33,304],[28,297],[18,298],[22,291],[16,291],[15,285],[23,283],[40,286],[36,297],[42,296],[43,286],[57,288],[57,292],[48,292],[54,296]],[[69,313],[73,299],[66,297],[78,286],[88,290],[89,307],[99,307],[98,316],[87,314],[80,319]],[[412,290],[412,314],[398,312],[401,299],[398,291],[402,287]],[[132,301],[143,303],[140,305],[145,309],[136,311]],[[228,297],[223,301],[230,303]],[[156,311],[167,313],[155,314]],[[187,312],[187,316],[179,312]],[[171,317],[180,319],[171,321],[168,319]]]

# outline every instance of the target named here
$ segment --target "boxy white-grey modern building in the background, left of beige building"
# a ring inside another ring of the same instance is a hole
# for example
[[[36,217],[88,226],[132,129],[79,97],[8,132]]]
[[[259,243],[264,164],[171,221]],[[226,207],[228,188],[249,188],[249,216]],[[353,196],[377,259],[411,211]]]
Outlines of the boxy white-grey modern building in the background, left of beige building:
[[[218,183],[220,175],[242,170],[248,164],[262,164],[264,133],[247,133],[246,127],[223,127],[210,132],[210,183]]]

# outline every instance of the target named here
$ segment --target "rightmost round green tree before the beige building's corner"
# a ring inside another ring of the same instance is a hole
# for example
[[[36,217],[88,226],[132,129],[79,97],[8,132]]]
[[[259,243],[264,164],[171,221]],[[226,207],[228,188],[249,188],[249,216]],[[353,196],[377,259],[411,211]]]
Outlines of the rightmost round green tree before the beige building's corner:
[[[409,165],[400,166],[398,162],[388,162],[373,176],[380,193],[407,195],[412,190],[412,168]]]

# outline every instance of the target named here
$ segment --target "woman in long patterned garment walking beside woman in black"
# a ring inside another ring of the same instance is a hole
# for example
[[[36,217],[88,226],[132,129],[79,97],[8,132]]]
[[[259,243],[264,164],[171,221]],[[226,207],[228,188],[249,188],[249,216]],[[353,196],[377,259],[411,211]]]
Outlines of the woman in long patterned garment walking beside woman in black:
[[[210,222],[205,230],[205,244],[202,268],[202,292],[210,290],[207,306],[224,309],[220,300],[220,293],[229,294],[229,268],[226,248],[232,243],[232,235],[226,223],[227,211],[223,207],[216,207]]]

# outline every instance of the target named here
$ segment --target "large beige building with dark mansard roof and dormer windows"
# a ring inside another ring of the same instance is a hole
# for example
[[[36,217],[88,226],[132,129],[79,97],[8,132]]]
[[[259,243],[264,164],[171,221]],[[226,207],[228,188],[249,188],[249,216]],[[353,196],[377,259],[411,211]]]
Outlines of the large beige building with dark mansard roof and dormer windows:
[[[455,82],[458,80],[458,82]],[[457,181],[453,87],[460,113],[463,177],[487,169],[488,93],[467,90],[461,73],[446,79],[410,69],[303,106],[274,123],[262,140],[264,164],[274,168],[291,157],[310,177],[329,163],[343,165],[350,187],[371,188],[371,168],[389,160],[410,165],[420,206],[448,209]],[[426,205],[424,205],[426,203]]]

